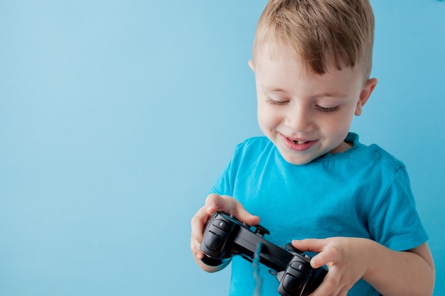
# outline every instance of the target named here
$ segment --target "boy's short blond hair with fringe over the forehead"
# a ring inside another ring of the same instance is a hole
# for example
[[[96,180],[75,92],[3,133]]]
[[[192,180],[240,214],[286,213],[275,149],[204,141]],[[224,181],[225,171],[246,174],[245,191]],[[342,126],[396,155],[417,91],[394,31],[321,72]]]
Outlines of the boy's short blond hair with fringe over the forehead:
[[[252,54],[290,47],[306,70],[323,74],[329,62],[338,70],[359,64],[368,78],[373,41],[368,0],[270,0],[259,18]]]

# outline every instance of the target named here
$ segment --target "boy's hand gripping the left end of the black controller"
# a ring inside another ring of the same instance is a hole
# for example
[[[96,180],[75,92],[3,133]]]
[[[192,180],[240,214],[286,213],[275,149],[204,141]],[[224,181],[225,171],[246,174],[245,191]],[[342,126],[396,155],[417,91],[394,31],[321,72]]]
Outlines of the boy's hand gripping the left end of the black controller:
[[[204,257],[204,253],[200,250],[200,243],[203,241],[205,223],[214,212],[225,212],[226,214],[233,215],[239,221],[248,225],[259,224],[259,216],[254,216],[247,212],[237,199],[227,195],[209,194],[205,199],[204,207],[201,207],[191,219],[191,251],[195,256],[195,261],[201,268],[205,267],[200,261]]]

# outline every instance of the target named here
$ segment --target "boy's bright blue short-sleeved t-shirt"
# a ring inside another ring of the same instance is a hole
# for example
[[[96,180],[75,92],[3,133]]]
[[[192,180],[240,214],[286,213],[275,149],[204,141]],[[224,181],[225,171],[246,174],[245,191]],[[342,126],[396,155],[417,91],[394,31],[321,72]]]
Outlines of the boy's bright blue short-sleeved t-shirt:
[[[365,146],[355,133],[353,146],[306,165],[286,162],[266,137],[237,146],[212,192],[238,199],[270,231],[278,246],[292,239],[348,236],[372,239],[395,251],[427,241],[417,214],[407,171],[377,145]],[[278,295],[277,279],[261,266],[261,295]],[[252,263],[232,259],[230,295],[253,295],[257,281]],[[348,296],[379,295],[364,280]]]

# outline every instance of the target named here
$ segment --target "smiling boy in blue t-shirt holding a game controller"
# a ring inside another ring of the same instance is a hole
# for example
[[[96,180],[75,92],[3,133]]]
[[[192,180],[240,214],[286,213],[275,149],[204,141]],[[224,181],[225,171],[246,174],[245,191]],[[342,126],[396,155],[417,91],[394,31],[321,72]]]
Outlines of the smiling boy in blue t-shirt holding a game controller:
[[[193,216],[200,261],[203,226],[215,212],[269,229],[328,267],[313,296],[432,295],[434,262],[404,165],[349,133],[377,84],[369,78],[374,18],[368,0],[271,0],[255,33],[258,122]],[[254,213],[254,216],[250,213]],[[311,239],[307,239],[311,238]],[[278,282],[262,273],[262,295]],[[252,295],[252,264],[232,258],[230,295]]]

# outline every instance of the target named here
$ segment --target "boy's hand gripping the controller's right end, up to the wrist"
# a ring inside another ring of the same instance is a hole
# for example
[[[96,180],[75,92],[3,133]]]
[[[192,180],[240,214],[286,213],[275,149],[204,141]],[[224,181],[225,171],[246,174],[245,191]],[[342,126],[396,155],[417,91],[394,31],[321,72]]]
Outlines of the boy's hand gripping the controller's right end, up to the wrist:
[[[367,250],[372,243],[368,239],[349,237],[292,241],[292,246],[301,251],[318,253],[311,260],[312,268],[328,267],[323,283],[311,296],[346,296],[368,270],[372,256]]]

